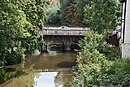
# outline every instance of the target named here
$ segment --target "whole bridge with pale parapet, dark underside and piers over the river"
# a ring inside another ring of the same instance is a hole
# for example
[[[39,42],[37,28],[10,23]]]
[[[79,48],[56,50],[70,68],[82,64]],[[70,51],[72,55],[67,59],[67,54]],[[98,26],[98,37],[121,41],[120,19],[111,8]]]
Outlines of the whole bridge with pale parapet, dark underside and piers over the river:
[[[71,45],[78,43],[84,37],[84,33],[89,31],[84,27],[44,27],[41,34],[46,43],[46,49],[54,43],[62,44],[64,50],[71,50]]]

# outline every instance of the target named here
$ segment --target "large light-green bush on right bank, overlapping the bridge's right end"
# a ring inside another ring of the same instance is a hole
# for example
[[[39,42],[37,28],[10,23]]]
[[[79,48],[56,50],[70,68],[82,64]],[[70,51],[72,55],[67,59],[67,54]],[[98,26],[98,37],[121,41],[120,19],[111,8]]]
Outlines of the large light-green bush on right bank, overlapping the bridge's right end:
[[[97,34],[93,31],[87,32],[85,38],[79,42],[81,50],[77,56],[77,66],[75,71],[75,78],[73,87],[106,87],[106,86],[118,86],[120,84],[114,84],[116,77],[112,67],[114,67],[115,60],[119,59],[119,50],[113,50],[112,46],[108,45],[105,38],[101,34]],[[114,57],[115,59],[109,58]],[[118,64],[117,64],[118,65]],[[120,65],[120,64],[119,64]],[[117,68],[117,67],[115,67]],[[122,69],[124,66],[122,66]],[[123,76],[124,72],[121,72]],[[113,76],[113,79],[111,78]],[[124,80],[124,78],[122,78]],[[120,80],[120,82],[122,81]],[[127,80],[128,81],[128,80]],[[117,82],[118,83],[118,82]]]

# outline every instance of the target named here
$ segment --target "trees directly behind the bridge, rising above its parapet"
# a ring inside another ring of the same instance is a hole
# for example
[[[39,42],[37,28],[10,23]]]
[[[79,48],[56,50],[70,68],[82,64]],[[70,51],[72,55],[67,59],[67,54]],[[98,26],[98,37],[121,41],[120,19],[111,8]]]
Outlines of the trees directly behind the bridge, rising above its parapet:
[[[59,0],[45,6],[46,25],[84,26],[84,6],[90,0]]]

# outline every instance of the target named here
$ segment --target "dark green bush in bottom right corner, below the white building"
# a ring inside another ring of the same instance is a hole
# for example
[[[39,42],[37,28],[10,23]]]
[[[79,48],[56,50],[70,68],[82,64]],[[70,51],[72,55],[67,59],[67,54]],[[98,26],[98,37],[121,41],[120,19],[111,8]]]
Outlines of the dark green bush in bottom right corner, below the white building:
[[[112,65],[108,70],[109,83],[120,86],[130,86],[130,60],[119,59],[113,61]]]

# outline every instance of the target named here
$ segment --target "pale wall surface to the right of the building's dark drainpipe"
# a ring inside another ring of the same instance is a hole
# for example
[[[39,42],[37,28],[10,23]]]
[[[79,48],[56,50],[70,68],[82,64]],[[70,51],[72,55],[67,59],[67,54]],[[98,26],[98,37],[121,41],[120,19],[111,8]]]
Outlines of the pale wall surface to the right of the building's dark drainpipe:
[[[122,44],[122,57],[130,58],[130,0],[127,0],[125,17],[124,43]]]

